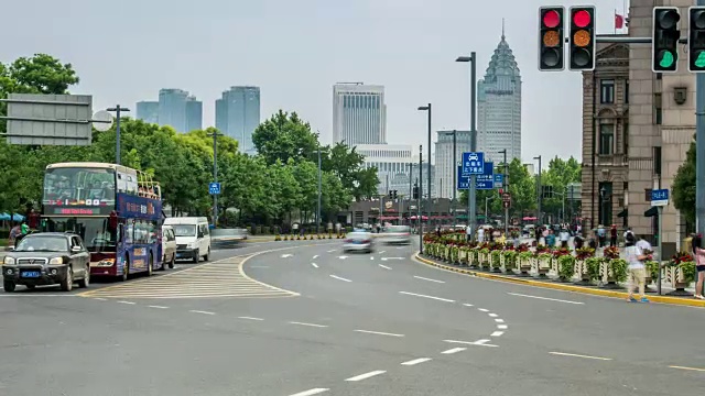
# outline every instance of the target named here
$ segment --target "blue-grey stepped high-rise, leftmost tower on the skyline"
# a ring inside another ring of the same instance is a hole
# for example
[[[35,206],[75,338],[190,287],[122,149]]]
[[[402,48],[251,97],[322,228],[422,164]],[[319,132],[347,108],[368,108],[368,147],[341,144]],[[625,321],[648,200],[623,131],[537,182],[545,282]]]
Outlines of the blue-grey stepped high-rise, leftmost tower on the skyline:
[[[170,125],[182,133],[202,129],[203,103],[185,90],[160,89],[158,121],[160,125]]]

